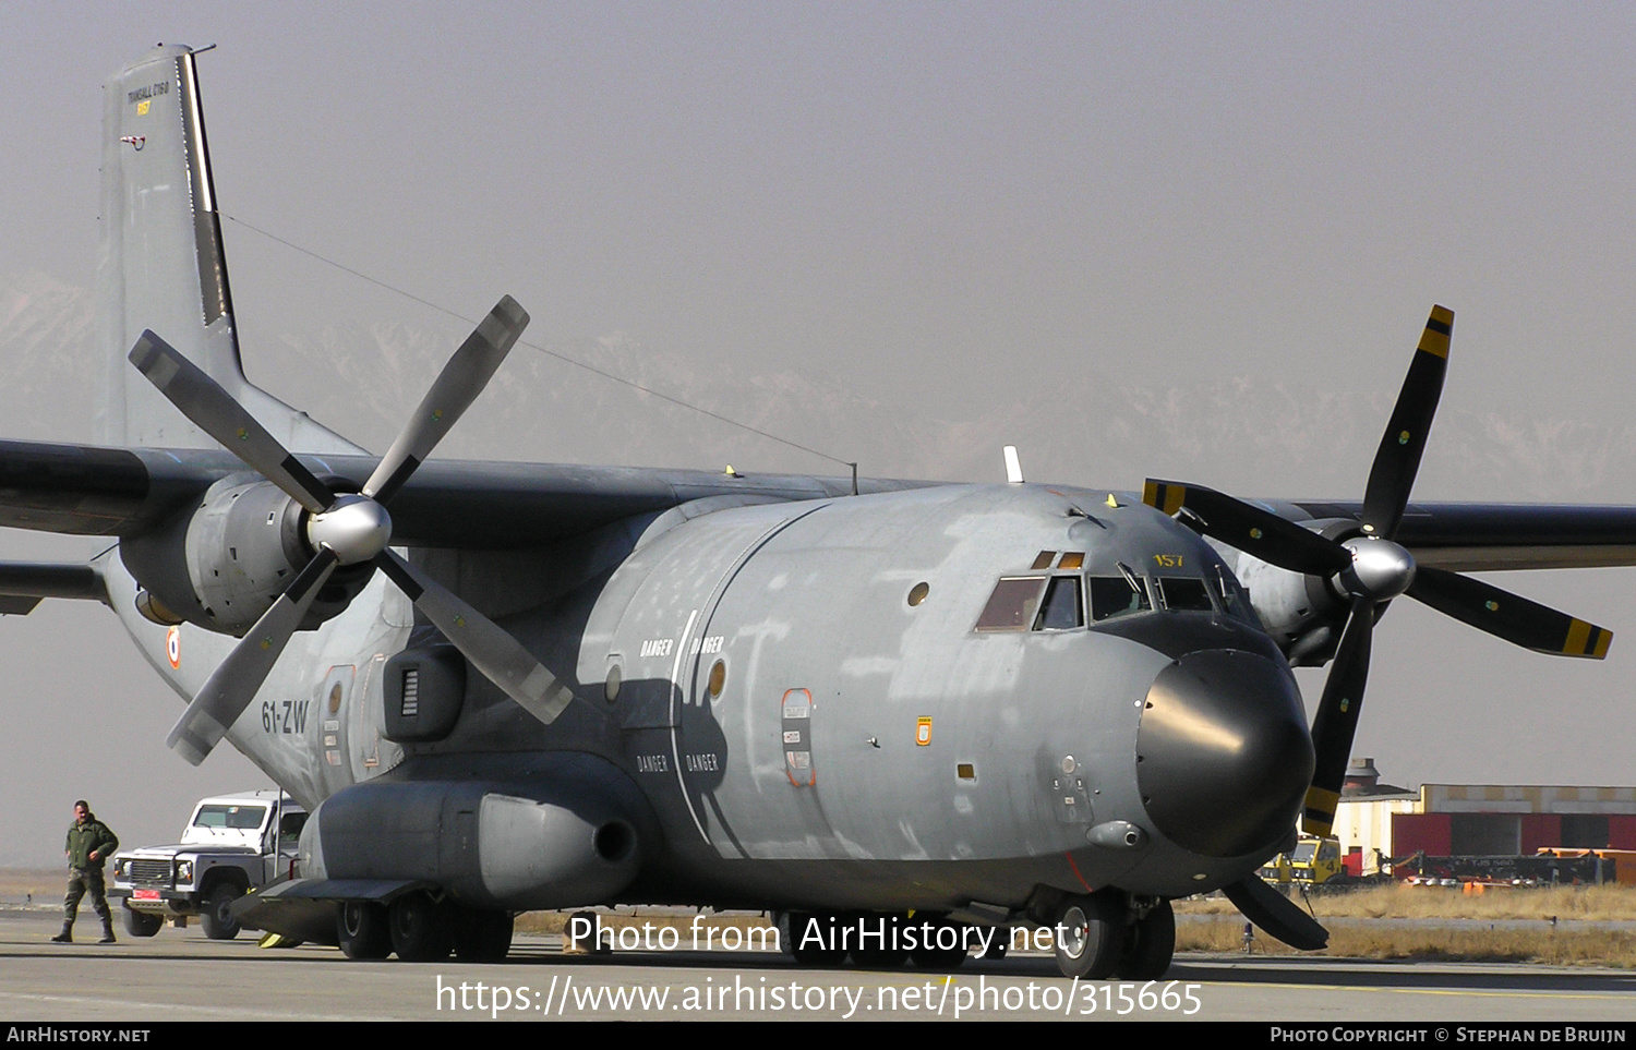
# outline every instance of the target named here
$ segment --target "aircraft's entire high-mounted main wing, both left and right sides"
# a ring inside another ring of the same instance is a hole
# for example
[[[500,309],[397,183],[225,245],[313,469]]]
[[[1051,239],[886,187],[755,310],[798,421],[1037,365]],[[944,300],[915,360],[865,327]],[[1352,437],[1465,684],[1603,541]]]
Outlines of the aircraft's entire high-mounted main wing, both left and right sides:
[[[362,487],[373,456],[299,455],[308,469]],[[101,448],[0,442],[0,527],[69,535],[141,535],[245,466],[226,450]],[[859,479],[861,492],[933,482]],[[849,478],[697,469],[432,460],[393,502],[393,541],[527,548],[710,496],[821,499]],[[1294,522],[1361,520],[1350,500],[1260,500]],[[1397,541],[1420,564],[1454,572],[1636,564],[1636,507],[1410,504]]]

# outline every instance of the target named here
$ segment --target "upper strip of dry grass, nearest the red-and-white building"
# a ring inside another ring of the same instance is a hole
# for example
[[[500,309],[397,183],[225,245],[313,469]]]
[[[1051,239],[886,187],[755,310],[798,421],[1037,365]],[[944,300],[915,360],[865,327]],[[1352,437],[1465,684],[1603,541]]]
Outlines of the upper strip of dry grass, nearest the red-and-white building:
[[[1301,898],[1296,896],[1299,901]],[[1466,895],[1441,886],[1381,886],[1309,898],[1319,919],[1584,919],[1611,922],[1636,919],[1633,886],[1492,888]],[[1178,913],[1237,914],[1227,900],[1176,901]]]

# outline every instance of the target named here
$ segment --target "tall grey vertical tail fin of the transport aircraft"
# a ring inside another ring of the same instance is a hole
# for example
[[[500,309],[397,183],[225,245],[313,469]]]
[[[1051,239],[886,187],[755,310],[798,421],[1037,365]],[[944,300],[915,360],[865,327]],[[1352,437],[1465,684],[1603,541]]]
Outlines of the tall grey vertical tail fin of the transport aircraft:
[[[244,378],[193,56],[162,44],[103,85],[97,275],[108,371],[97,440],[216,445],[126,361],[152,329],[293,451],[358,451]]]

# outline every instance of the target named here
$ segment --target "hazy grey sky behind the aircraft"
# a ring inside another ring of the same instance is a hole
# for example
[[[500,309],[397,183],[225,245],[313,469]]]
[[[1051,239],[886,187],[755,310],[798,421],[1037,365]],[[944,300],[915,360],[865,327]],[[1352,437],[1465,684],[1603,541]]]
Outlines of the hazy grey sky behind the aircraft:
[[[471,316],[510,293],[538,342],[826,371],[887,411],[1072,411],[1093,371],[1396,389],[1440,301],[1445,409],[1613,424],[1636,394],[1628,5],[13,0],[0,39],[0,280],[92,285],[101,80],[216,43],[226,214]],[[293,316],[461,334],[226,237],[247,370],[275,389],[257,337]],[[1371,453],[1337,450],[1350,496]],[[1302,491],[1265,464],[1261,494]],[[1636,576],[1499,582],[1621,633],[1613,657],[1531,657],[1400,602],[1356,751],[1399,782],[1636,780]],[[175,700],[111,625],[0,623],[0,860],[49,859],[41,828],[80,793],[129,837],[149,798],[258,785],[237,756],[164,754]]]

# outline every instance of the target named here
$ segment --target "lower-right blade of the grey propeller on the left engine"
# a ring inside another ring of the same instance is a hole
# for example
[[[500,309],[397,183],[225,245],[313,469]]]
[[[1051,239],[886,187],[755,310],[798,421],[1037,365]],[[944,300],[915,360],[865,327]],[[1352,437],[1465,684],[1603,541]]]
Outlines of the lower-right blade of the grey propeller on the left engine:
[[[393,551],[375,564],[386,572],[427,620],[460,649],[471,666],[543,725],[551,725],[574,695],[510,633],[471,608],[447,587]]]

